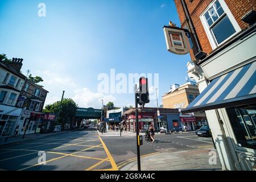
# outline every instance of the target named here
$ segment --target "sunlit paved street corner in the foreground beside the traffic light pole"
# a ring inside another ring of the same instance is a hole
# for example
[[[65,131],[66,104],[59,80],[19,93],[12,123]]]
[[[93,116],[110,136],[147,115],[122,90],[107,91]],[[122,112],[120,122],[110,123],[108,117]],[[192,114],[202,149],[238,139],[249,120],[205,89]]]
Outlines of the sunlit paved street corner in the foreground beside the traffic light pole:
[[[214,150],[211,150],[214,151]],[[176,171],[176,170],[193,170],[193,171],[220,171],[220,164],[209,164],[209,150],[195,149],[177,152],[162,152],[154,155],[143,156],[141,158],[142,171]],[[121,171],[137,171],[137,159]]]

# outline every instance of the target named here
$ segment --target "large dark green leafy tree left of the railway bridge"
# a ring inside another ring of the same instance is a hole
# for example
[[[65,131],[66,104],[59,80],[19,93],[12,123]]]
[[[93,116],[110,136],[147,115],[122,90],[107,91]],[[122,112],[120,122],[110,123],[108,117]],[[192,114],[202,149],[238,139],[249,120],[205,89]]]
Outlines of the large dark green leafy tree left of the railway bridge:
[[[69,124],[71,124],[70,121],[72,121],[73,117],[76,115],[76,108],[77,104],[72,98],[64,98],[62,103],[57,101],[53,104],[46,105],[43,111],[56,114],[60,111],[57,123],[61,124],[64,128],[65,123],[69,122]]]

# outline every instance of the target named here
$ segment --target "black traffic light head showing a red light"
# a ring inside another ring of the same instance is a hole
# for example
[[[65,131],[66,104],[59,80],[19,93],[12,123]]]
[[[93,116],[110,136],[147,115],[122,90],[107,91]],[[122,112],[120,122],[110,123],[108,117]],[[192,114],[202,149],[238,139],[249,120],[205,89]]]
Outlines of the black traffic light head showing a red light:
[[[147,78],[139,78],[139,105],[150,102],[148,94]]]

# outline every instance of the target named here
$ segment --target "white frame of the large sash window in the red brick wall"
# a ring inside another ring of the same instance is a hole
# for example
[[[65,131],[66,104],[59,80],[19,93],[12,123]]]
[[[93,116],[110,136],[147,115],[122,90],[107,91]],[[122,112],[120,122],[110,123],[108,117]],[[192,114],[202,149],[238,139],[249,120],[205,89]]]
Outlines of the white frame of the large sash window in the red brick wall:
[[[208,26],[208,23],[207,23],[207,20],[205,19],[204,15],[205,13],[207,13],[207,11],[210,9],[210,7],[213,6],[213,4],[218,1],[220,2],[220,5],[224,11],[224,13],[226,14],[226,16],[228,16],[230,22],[232,23],[234,29],[236,30],[236,32],[233,34],[233,35],[230,35],[227,39],[225,39],[223,42],[221,42],[220,44],[218,44],[215,36],[212,34],[209,26]],[[215,49],[217,48],[218,46],[221,46],[221,44],[224,44],[228,39],[230,39],[232,36],[236,35],[237,32],[240,32],[241,31],[241,28],[240,26],[238,25],[236,19],[234,18],[234,16],[232,15],[231,11],[229,10],[228,6],[226,5],[225,1],[224,0],[214,0],[213,2],[211,2],[207,9],[205,9],[203,11],[203,13],[200,15],[200,19],[201,19],[201,22],[203,24],[203,27],[204,27],[204,30],[207,34],[207,37],[209,39],[209,42],[210,42],[210,46],[212,47],[212,49]]]

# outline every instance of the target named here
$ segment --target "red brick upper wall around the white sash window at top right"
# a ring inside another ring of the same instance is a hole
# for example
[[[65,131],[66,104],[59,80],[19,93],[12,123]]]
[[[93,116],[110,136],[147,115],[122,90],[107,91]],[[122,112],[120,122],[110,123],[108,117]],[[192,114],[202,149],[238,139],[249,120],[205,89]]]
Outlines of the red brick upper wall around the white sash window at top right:
[[[189,0],[185,0],[192,22],[196,29],[196,33],[199,38],[201,47],[203,51],[207,54],[212,52],[212,47],[210,46],[207,34],[204,30],[203,24],[201,23],[200,15],[212,1],[213,0],[193,0],[192,2],[190,2]],[[174,0],[174,2],[176,5],[177,13],[179,14],[181,27],[184,27],[187,21],[185,20],[185,14],[183,11],[183,7],[181,6],[181,0]],[[244,23],[241,20],[241,17],[245,15],[248,11],[256,9],[256,0],[225,0],[225,3],[229,7],[229,10],[233,14],[234,18],[237,20],[240,28],[244,30],[246,27],[248,27],[248,24]],[[195,60],[195,56],[192,50],[190,51],[190,55],[191,59]]]

